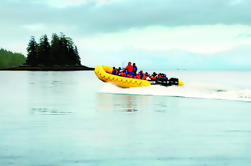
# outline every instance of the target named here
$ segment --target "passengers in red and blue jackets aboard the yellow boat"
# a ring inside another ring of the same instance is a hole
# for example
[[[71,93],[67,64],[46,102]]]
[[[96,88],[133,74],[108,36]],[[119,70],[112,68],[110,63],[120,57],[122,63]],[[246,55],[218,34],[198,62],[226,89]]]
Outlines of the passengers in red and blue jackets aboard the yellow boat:
[[[122,69],[121,67],[119,68],[115,68],[113,67],[112,70],[112,74],[114,75],[118,75],[118,76],[122,76],[122,77],[128,77],[128,78],[136,78],[136,79],[142,79],[142,80],[156,80],[156,79],[168,79],[166,74],[164,73],[155,73],[153,72],[153,74],[148,74],[147,72],[143,72],[143,70],[140,70],[137,73],[137,66],[135,63],[129,62],[128,65],[126,66],[126,68]]]

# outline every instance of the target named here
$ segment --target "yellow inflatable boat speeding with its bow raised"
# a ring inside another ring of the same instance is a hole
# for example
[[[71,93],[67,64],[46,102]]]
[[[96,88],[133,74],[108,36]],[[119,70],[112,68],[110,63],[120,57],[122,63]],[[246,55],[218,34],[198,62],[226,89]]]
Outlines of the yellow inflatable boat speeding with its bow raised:
[[[150,86],[153,84],[158,84],[157,81],[152,82],[152,81],[147,81],[147,80],[134,79],[134,78],[113,75],[112,70],[113,70],[113,68],[110,66],[97,66],[97,67],[95,67],[95,74],[101,81],[111,82],[111,83],[113,83],[119,87],[123,87],[123,88]],[[184,84],[180,80],[177,79],[176,85],[183,86]]]

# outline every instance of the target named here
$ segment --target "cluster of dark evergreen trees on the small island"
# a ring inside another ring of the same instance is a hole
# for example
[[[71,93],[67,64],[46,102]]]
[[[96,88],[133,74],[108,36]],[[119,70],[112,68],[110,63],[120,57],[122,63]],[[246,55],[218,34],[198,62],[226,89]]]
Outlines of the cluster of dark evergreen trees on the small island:
[[[43,35],[39,43],[32,36],[27,53],[26,65],[30,66],[81,66],[77,46],[63,33],[52,34],[50,42],[47,35]]]

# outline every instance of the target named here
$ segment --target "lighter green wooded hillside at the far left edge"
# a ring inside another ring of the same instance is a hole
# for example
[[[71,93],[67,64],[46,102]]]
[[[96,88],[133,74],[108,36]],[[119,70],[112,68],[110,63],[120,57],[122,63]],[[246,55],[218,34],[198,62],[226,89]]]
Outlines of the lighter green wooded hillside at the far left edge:
[[[20,53],[13,53],[5,49],[0,49],[0,68],[9,68],[23,65],[26,57]]]

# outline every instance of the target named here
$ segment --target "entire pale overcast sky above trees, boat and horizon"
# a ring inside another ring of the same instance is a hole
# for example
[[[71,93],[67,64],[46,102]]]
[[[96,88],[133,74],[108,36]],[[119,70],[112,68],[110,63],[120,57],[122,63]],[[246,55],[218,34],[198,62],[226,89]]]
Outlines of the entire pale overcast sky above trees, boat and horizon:
[[[251,68],[249,0],[1,0],[0,47],[26,53],[54,32],[92,66]]]

